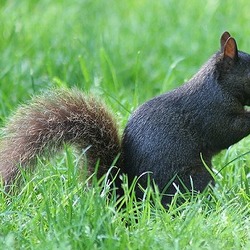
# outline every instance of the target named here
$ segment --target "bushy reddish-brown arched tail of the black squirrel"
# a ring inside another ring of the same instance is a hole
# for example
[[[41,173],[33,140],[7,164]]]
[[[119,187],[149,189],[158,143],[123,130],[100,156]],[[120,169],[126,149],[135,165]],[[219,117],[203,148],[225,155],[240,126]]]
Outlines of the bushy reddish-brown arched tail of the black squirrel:
[[[35,96],[21,106],[2,129],[0,175],[11,183],[23,167],[37,156],[54,153],[64,143],[79,150],[87,147],[88,169],[99,160],[98,175],[104,174],[120,153],[116,123],[103,103],[79,90],[56,90]]]

